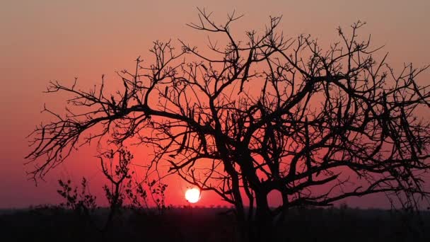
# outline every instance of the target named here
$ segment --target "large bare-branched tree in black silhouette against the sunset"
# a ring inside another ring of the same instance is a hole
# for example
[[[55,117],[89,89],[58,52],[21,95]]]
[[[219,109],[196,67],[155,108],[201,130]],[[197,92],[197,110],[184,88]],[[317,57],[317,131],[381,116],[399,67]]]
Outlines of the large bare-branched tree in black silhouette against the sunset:
[[[429,195],[422,172],[430,168],[430,126],[416,112],[430,107],[430,93],[416,81],[428,67],[408,64],[396,74],[387,55],[374,58],[380,48],[370,38],[359,40],[360,21],[350,35],[338,28],[339,41],[323,50],[310,36],[286,38],[279,17],[238,41],[231,25],[240,17],[218,25],[199,9],[189,26],[226,44],[209,38],[202,52],[180,40],[177,51],[156,41],[153,62],[137,58],[136,69],[118,73],[124,88],[117,93],[106,93],[104,76],[90,91],[76,80],[51,82],[47,93],[71,94],[75,109],[65,116],[45,109],[57,120],[33,132],[27,159],[43,159],[34,177],[76,146],[108,136],[114,144],[153,145],[151,168],[168,162],[170,173],[216,192],[244,228],[259,228],[250,231],[269,229],[291,207],[376,192],[416,207],[417,195]],[[282,204],[271,209],[274,190]]]

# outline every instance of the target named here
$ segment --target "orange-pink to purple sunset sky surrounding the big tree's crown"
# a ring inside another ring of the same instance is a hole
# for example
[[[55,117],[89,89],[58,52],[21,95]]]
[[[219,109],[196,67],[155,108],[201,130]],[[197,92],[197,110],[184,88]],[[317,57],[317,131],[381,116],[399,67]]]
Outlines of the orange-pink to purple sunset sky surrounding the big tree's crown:
[[[282,16],[281,30],[290,37],[306,33],[322,47],[337,38],[336,28],[366,21],[362,35],[373,46],[385,45],[388,63],[402,67],[430,64],[430,1],[57,1],[2,0],[0,2],[0,208],[59,202],[57,180],[79,181],[85,175],[100,196],[100,169],[93,150],[83,147],[49,173],[37,187],[28,181],[23,157],[35,125],[49,121],[40,113],[44,103],[61,112],[64,96],[47,95],[48,81],[70,83],[75,76],[93,86],[101,74],[115,81],[115,71],[132,67],[149,56],[154,40],[178,39],[202,45],[207,36],[186,26],[197,21],[196,7],[214,11],[219,21],[236,10],[245,16],[233,33],[262,30],[269,16]],[[429,71],[419,83],[429,84]],[[117,81],[117,80],[116,80]],[[138,154],[137,157],[144,157]],[[182,204],[186,183],[168,188],[168,202]],[[387,207],[381,196],[348,201],[352,206]],[[202,195],[202,205],[221,204],[215,195]]]

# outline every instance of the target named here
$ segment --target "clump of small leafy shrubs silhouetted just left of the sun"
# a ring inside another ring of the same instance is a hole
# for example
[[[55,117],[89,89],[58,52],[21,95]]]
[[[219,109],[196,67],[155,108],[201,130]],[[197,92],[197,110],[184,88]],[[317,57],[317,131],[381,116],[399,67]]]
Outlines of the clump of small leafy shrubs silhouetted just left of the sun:
[[[167,185],[156,180],[151,182],[146,180],[146,184],[145,181],[136,180],[134,171],[130,171],[133,159],[130,151],[124,147],[117,151],[106,151],[100,154],[99,159],[100,168],[108,180],[108,184],[103,186],[105,198],[109,203],[108,209],[102,209],[108,212],[103,226],[100,225],[102,217],[97,214],[97,210],[100,211],[101,208],[97,206],[96,197],[88,191],[86,178],[82,179],[80,190],[78,187],[73,187],[71,180],[66,182],[59,180],[61,189],[57,192],[65,202],[54,209],[73,212],[76,218],[81,220],[81,225],[88,224],[85,226],[86,229],[91,227],[94,231],[100,232],[103,238],[108,238],[109,231],[115,230],[115,220],[120,219],[124,212],[133,212],[137,215],[153,213],[154,209],[150,209],[149,202],[153,203],[158,214],[163,214],[166,209],[170,209],[165,205]]]

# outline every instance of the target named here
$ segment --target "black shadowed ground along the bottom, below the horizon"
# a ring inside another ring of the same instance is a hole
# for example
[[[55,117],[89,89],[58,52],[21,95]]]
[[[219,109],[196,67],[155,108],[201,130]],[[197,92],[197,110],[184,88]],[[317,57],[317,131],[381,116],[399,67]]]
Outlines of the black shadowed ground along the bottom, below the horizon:
[[[104,234],[106,211],[91,221],[58,207],[0,210],[0,241],[237,241],[223,208],[176,208],[163,214],[124,211]],[[376,209],[296,209],[276,241],[430,241],[430,213],[420,218]]]

